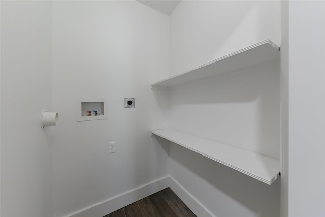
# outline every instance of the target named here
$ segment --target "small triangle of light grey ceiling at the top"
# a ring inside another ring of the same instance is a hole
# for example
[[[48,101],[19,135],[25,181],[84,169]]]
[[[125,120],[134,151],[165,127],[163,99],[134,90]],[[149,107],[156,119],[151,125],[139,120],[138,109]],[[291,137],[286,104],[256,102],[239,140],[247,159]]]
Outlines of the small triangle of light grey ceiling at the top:
[[[138,2],[153,8],[161,13],[170,15],[181,0],[137,0]]]

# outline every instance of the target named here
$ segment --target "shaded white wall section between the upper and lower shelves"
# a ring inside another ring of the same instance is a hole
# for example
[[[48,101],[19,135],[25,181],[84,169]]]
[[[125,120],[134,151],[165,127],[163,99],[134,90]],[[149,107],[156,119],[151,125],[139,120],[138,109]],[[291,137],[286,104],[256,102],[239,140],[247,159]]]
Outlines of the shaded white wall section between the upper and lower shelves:
[[[271,62],[170,89],[170,127],[279,159],[279,65]]]

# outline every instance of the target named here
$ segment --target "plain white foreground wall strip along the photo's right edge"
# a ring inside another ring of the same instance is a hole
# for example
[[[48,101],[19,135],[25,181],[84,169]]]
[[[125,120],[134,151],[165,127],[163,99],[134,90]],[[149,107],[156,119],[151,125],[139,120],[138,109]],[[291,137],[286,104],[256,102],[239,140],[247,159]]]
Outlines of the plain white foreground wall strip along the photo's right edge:
[[[290,217],[325,216],[324,10],[323,1],[289,3]]]

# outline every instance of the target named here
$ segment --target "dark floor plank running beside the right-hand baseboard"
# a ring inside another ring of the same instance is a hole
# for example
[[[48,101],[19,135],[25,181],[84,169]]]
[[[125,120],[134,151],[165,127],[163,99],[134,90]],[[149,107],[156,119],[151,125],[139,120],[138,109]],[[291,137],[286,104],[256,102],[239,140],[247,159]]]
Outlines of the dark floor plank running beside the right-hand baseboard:
[[[196,215],[170,188],[160,191],[159,194],[166,200],[168,205],[178,216],[196,217]]]

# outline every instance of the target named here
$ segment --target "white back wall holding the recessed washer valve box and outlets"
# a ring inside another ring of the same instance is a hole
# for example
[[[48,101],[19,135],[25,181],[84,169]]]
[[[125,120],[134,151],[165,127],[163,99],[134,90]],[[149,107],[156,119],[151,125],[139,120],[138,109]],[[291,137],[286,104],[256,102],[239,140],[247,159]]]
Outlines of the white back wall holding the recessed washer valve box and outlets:
[[[168,55],[169,17],[139,2],[53,2],[53,216],[168,176],[168,143],[150,137],[166,126],[150,83],[167,75]],[[78,97],[107,98],[108,119],[77,122]]]

